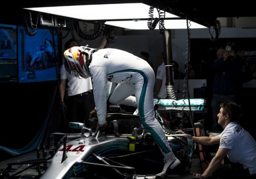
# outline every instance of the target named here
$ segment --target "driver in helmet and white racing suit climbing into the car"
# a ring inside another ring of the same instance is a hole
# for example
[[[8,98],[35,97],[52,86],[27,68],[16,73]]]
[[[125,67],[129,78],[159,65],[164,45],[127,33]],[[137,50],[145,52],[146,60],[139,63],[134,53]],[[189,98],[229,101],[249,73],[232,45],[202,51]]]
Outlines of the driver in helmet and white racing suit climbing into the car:
[[[108,81],[118,83],[109,96],[112,104],[137,106],[142,125],[151,133],[164,155],[164,169],[158,176],[180,164],[154,117],[155,74],[148,62],[119,49],[92,49],[88,45],[64,52],[64,65],[70,75],[92,79],[98,127],[106,127]],[[132,95],[135,96],[132,96]]]

